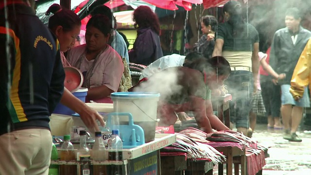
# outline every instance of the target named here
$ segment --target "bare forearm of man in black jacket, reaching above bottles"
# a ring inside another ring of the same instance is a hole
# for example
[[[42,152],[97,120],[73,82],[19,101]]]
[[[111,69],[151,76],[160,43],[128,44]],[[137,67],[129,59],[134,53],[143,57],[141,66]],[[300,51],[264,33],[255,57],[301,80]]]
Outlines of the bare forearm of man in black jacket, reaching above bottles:
[[[99,128],[97,126],[96,120],[100,121],[102,126],[104,126],[104,120],[99,113],[87,106],[85,103],[83,103],[81,100],[76,98],[74,95],[72,95],[71,92],[67,88],[64,88],[64,93],[61,99],[61,103],[63,105],[66,105],[71,110],[78,113],[83,121],[83,123],[86,124],[86,127],[90,131],[99,131]]]

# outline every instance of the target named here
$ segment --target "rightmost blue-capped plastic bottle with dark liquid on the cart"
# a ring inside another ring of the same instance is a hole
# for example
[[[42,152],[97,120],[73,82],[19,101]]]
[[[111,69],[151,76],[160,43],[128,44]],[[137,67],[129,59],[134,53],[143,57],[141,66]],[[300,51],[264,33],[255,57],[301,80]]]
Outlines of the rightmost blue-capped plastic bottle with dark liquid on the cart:
[[[119,130],[112,130],[112,135],[108,141],[108,160],[122,160],[123,143],[119,137]],[[108,167],[108,175],[122,175],[122,167],[111,165]]]

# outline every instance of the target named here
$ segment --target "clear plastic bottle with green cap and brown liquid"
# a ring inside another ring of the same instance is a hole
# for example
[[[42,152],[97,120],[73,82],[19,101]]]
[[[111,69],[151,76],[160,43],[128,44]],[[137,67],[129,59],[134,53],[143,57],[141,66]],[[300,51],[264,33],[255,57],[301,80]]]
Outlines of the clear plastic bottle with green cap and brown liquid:
[[[72,161],[75,160],[74,148],[70,142],[70,136],[64,136],[64,143],[60,149],[60,160]],[[77,175],[76,165],[60,165],[59,175]]]

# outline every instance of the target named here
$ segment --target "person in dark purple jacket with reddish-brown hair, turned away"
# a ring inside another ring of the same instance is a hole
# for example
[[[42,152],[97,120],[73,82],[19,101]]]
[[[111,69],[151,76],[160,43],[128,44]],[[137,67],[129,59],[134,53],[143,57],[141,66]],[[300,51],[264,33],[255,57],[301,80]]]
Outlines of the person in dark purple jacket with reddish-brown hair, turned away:
[[[129,51],[131,63],[149,65],[163,56],[160,45],[160,24],[155,13],[148,6],[139,6],[134,11],[137,38]]]

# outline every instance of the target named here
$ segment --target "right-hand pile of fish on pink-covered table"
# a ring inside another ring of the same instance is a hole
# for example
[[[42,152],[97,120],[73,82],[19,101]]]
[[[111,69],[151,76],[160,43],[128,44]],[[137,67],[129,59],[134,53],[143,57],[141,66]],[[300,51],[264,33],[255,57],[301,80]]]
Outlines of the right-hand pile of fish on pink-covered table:
[[[241,143],[245,146],[246,152],[260,154],[260,151],[264,151],[266,148],[259,145],[257,141],[252,140],[249,137],[244,136],[242,133],[236,131],[217,131],[207,134],[206,140],[213,142],[235,142]]]

